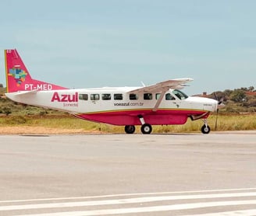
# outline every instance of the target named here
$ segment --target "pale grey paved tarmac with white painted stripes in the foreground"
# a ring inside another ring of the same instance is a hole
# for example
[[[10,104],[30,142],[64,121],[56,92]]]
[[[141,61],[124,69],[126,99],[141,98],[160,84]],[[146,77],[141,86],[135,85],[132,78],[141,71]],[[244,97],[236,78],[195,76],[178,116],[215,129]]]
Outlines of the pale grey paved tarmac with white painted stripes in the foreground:
[[[256,214],[256,131],[0,138],[0,215]]]

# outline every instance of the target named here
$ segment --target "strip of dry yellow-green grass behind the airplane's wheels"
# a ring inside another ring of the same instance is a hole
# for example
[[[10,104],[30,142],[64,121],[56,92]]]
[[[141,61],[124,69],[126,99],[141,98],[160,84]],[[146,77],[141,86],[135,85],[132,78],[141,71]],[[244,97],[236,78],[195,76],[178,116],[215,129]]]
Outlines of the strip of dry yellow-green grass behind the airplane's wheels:
[[[208,118],[208,124],[215,131],[215,115]],[[187,120],[184,125],[154,126],[153,133],[200,132],[201,120]],[[256,114],[221,114],[217,131],[256,130]],[[123,127],[98,124],[79,120],[67,114],[44,116],[2,116],[0,134],[86,134],[86,133],[124,133]],[[136,133],[140,133],[137,127]]]

